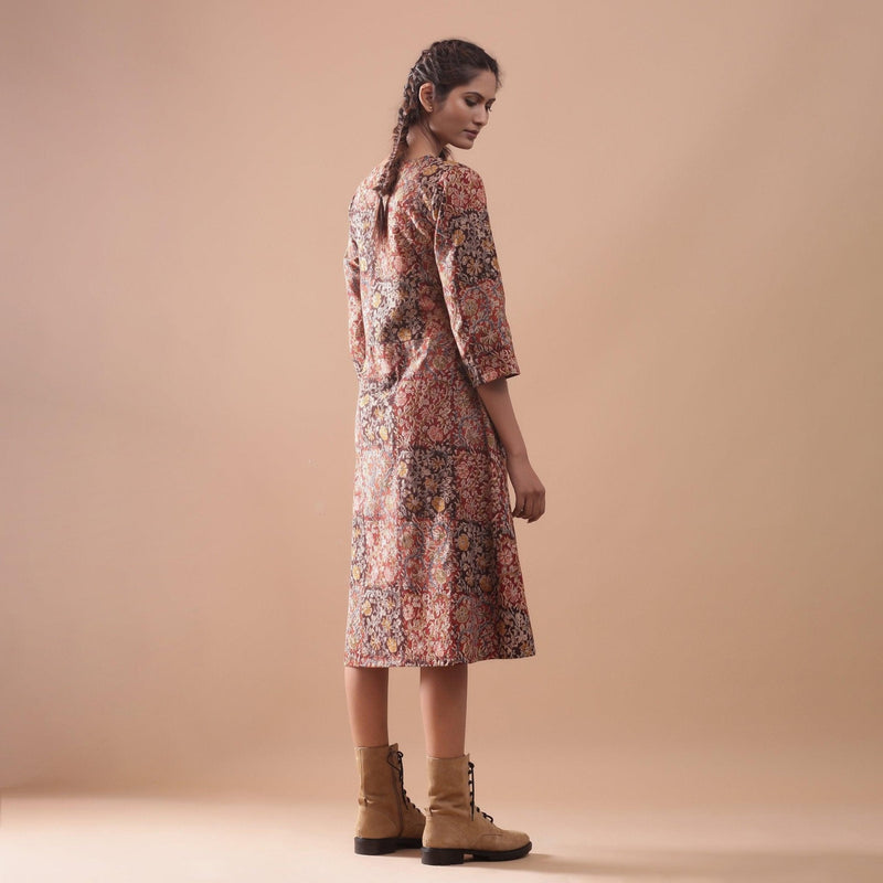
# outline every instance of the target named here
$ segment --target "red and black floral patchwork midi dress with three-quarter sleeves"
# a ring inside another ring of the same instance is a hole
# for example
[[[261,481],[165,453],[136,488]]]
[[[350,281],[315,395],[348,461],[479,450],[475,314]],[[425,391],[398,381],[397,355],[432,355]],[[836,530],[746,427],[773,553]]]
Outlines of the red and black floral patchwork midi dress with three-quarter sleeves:
[[[350,202],[343,258],[359,383],[344,663],[533,656],[506,451],[476,389],[519,374],[483,182],[405,161],[376,244],[381,171]]]

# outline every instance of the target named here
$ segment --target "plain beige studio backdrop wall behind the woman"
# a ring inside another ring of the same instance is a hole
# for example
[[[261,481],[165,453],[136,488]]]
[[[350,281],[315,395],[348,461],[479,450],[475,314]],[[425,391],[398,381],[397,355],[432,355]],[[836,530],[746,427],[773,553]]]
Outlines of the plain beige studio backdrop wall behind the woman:
[[[347,205],[461,36],[549,494],[469,749],[880,792],[883,4],[3,7],[2,786],[349,798]]]

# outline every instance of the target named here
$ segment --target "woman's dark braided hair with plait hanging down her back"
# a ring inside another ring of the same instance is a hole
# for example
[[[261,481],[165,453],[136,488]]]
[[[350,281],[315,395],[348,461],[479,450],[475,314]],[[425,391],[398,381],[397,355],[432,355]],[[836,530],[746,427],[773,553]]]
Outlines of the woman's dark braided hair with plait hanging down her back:
[[[500,70],[497,61],[483,49],[466,40],[437,40],[425,49],[411,68],[402,105],[398,108],[398,120],[393,129],[392,151],[383,163],[383,170],[374,190],[377,193],[374,235],[382,238],[386,235],[386,203],[395,190],[398,172],[407,150],[407,134],[412,126],[428,119],[428,114],[419,102],[419,88],[424,83],[433,84],[433,95],[437,102],[444,102],[455,86],[462,86],[480,71],[490,71],[500,86]],[[439,159],[448,159],[447,146],[438,155]]]

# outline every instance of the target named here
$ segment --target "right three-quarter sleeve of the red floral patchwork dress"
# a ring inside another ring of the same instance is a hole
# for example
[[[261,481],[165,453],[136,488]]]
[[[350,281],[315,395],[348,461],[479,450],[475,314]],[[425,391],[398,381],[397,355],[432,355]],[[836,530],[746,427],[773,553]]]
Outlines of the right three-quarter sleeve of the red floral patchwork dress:
[[[515,376],[520,371],[479,173],[451,166],[439,182],[434,212],[438,274],[469,381],[479,386]]]

